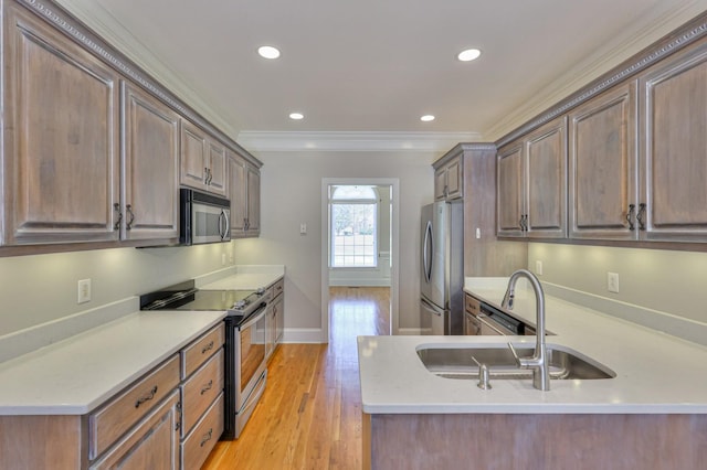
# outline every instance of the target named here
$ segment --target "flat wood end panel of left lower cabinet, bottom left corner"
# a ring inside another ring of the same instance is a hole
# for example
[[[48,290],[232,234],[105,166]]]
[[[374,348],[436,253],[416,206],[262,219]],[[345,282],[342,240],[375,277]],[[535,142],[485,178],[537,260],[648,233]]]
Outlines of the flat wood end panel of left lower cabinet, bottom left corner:
[[[85,468],[88,432],[82,419],[61,415],[0,416],[0,469],[43,469],[46,462],[56,469]]]

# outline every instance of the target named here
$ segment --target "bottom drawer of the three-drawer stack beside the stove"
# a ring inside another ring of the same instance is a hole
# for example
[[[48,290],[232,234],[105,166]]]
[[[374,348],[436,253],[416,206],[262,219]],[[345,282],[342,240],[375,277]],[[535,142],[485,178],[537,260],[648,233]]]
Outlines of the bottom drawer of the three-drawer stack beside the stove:
[[[223,432],[223,394],[219,395],[205,415],[181,445],[182,469],[198,469]]]

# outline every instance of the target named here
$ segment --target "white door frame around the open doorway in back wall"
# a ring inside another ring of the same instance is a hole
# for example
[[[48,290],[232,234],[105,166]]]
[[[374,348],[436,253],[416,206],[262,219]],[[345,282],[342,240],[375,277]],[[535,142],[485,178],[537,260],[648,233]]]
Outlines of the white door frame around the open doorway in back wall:
[[[330,185],[389,185],[393,213],[390,226],[390,329],[398,334],[398,276],[400,180],[398,178],[323,178],[321,179],[321,342],[329,342],[329,186]]]

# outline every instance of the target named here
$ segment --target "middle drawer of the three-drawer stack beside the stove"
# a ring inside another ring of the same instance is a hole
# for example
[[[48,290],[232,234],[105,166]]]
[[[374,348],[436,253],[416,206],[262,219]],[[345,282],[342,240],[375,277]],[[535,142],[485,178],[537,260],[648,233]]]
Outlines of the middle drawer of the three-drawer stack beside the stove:
[[[223,349],[181,385],[182,437],[223,389]]]

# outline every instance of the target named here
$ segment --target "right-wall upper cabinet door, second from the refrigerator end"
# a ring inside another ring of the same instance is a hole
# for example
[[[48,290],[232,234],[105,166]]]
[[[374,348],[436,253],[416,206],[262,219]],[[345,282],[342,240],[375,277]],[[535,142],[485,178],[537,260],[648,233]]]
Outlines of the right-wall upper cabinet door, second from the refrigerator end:
[[[526,139],[527,236],[567,236],[567,124],[562,117]]]

